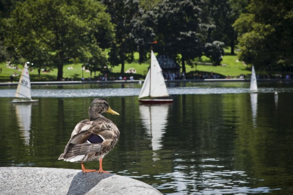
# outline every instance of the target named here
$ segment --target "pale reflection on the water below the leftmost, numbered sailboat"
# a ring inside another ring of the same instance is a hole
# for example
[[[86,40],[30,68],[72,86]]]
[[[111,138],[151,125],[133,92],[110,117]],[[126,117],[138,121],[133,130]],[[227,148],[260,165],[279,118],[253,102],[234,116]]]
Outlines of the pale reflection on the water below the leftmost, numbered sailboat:
[[[31,129],[32,104],[15,104],[16,118],[20,127],[21,139],[25,145],[29,145]]]

